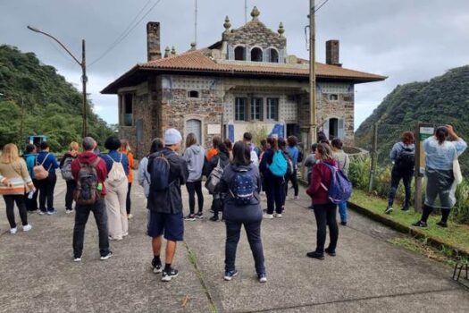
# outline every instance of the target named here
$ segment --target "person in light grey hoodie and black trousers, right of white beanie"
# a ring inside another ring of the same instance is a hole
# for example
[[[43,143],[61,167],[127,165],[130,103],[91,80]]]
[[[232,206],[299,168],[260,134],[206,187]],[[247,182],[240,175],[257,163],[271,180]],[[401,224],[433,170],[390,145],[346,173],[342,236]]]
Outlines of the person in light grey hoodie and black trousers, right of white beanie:
[[[203,218],[204,210],[204,194],[202,193],[202,171],[204,169],[205,149],[197,144],[196,134],[193,132],[188,134],[186,139],[186,151],[183,155],[188,165],[188,181],[186,188],[188,189],[188,207],[189,214],[184,217],[186,221],[195,221],[197,218]],[[196,209],[196,193],[198,211]]]

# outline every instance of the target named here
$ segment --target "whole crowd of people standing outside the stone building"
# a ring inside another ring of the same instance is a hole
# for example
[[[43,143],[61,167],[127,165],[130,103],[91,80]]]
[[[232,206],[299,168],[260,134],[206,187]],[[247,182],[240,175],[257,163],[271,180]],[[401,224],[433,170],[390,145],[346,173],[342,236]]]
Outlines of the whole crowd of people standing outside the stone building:
[[[452,141],[448,141],[448,137]],[[140,160],[138,166],[138,184],[147,197],[148,223],[147,234],[152,238],[154,257],[151,262],[153,272],[162,274],[162,281],[169,282],[179,275],[172,266],[178,241],[184,238],[184,220],[195,221],[203,218],[205,187],[213,196],[212,221],[220,219],[226,225],[225,274],[230,281],[238,275],[235,266],[236,250],[240,232],[244,226],[252,254],[255,260],[257,279],[267,281],[264,266],[264,250],[261,240],[263,219],[281,218],[285,210],[285,201],[292,182],[294,197],[298,199],[298,165],[303,162],[303,153],[297,148],[297,138],[287,140],[269,137],[261,140],[261,147],[252,143],[252,135],[245,133],[243,140],[231,143],[214,137],[213,147],[205,149],[197,142],[197,137],[189,133],[185,141],[185,151],[181,153],[182,137],[180,131],[168,129],[163,139],[152,141],[147,157]],[[6,213],[11,226],[11,233],[16,233],[13,207],[20,210],[23,231],[29,231],[27,210],[37,209],[39,190],[39,214],[53,215],[55,169],[62,169],[63,179],[67,182],[65,209],[75,211],[73,230],[73,258],[80,262],[83,252],[84,230],[90,212],[93,212],[99,233],[100,258],[105,260],[113,253],[109,241],[121,241],[129,234],[128,219],[130,214],[130,188],[133,156],[129,142],[110,137],[105,141],[107,154],[97,154],[96,140],[83,139],[82,152],[79,144],[72,142],[70,151],[57,163],[48,145],[43,143],[40,152],[28,146],[24,158],[14,144],[4,146],[0,157],[0,192],[4,195]],[[339,139],[327,139],[318,135],[317,143],[311,147],[312,153],[305,160],[307,167],[307,195],[312,199],[311,208],[317,224],[316,249],[306,253],[309,258],[323,259],[327,254],[336,255],[339,239],[337,211],[342,225],[347,225],[347,202],[332,199],[332,184],[336,183],[340,173],[348,174],[350,160],[343,151]],[[422,219],[415,226],[426,226],[435,200],[440,198],[442,220],[440,226],[446,227],[449,209],[454,206],[454,183],[457,173],[453,165],[467,147],[465,141],[457,137],[451,126],[440,127],[435,136],[425,140],[426,176],[428,178],[425,207]],[[413,155],[414,154],[414,155]],[[392,171],[389,207],[392,212],[393,200],[398,182],[403,179],[406,185],[405,210],[410,206],[410,181],[415,159],[414,137],[410,132],[403,135],[402,142],[396,144],[390,154],[395,162]],[[407,172],[405,171],[407,169]],[[347,181],[347,177],[345,178]],[[187,216],[183,216],[181,186],[188,190]],[[261,194],[265,193],[267,208],[263,214]],[[196,213],[197,197],[197,213]],[[72,207],[73,201],[75,208]],[[36,203],[36,207],[35,207]],[[329,227],[330,243],[326,247],[326,230]],[[163,237],[167,241],[164,265],[161,258]]]

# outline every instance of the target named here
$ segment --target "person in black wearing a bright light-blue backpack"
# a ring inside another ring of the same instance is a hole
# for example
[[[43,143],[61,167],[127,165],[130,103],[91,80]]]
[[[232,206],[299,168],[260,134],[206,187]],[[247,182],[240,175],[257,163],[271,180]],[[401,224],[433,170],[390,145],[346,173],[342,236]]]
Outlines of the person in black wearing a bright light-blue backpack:
[[[265,194],[267,196],[267,212],[264,218],[272,219],[281,217],[282,203],[285,189],[283,188],[284,176],[287,173],[287,160],[279,148],[275,138],[268,138],[269,148],[264,152],[259,170],[264,177]],[[275,208],[275,215],[273,210]]]

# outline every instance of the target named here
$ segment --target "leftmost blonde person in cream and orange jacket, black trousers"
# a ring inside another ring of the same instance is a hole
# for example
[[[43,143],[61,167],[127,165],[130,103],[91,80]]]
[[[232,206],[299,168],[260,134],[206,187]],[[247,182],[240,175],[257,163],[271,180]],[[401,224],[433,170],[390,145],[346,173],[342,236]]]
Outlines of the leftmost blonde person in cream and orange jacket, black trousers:
[[[34,184],[28,173],[26,162],[19,156],[18,147],[14,143],[4,145],[0,156],[0,194],[4,196],[6,218],[10,224],[10,233],[17,232],[14,220],[14,204],[20,211],[23,232],[29,232],[28,212],[24,203],[25,193],[35,191]]]

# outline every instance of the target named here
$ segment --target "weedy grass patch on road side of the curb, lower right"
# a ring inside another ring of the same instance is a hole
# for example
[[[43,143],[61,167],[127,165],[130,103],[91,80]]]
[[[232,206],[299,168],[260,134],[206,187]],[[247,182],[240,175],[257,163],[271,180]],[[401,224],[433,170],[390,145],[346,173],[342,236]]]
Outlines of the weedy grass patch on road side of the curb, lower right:
[[[454,250],[448,246],[441,246],[440,250],[433,248],[426,243],[426,239],[415,239],[411,237],[398,237],[389,239],[388,242],[402,247],[406,250],[411,250],[423,255],[426,258],[436,260],[444,263],[447,266],[454,267],[456,263],[467,264],[469,261],[465,257],[458,257],[455,255]]]

